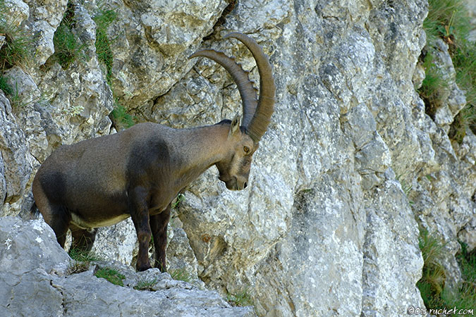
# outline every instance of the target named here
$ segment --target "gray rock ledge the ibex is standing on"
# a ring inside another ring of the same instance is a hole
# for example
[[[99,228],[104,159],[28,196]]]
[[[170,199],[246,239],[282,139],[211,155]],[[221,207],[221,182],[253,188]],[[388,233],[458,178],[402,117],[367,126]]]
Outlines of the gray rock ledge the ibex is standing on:
[[[68,275],[71,260],[42,220],[0,219],[1,316],[255,316],[250,307],[231,307],[217,292],[199,290],[152,269],[126,276],[124,287],[93,271]],[[111,265],[109,263],[109,265]],[[139,282],[149,290],[134,290]]]

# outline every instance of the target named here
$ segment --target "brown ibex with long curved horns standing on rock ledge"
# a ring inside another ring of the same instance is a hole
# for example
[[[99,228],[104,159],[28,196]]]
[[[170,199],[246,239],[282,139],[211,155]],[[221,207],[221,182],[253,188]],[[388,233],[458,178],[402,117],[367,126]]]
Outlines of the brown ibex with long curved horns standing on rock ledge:
[[[211,166],[231,190],[248,184],[252,155],[274,111],[275,86],[271,65],[250,37],[233,32],[225,38],[243,42],[260,73],[260,99],[248,72],[233,58],[204,49],[205,56],[223,66],[238,86],[243,123],[236,116],[215,125],[173,129],[140,123],[114,135],[87,139],[54,151],[40,166],[32,191],[32,212],[42,213],[64,247],[71,230],[73,248],[90,251],[98,227],[131,217],[139,241],[137,270],[151,268],[148,256],[154,238],[154,266],[166,271],[166,232],[171,201]]]

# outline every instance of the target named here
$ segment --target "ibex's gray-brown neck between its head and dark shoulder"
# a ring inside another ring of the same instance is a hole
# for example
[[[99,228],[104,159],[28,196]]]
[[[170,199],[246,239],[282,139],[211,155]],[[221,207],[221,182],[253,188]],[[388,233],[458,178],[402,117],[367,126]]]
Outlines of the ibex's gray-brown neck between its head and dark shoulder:
[[[228,125],[209,125],[178,130],[182,149],[178,166],[178,187],[185,187],[198,176],[221,161],[227,151]]]

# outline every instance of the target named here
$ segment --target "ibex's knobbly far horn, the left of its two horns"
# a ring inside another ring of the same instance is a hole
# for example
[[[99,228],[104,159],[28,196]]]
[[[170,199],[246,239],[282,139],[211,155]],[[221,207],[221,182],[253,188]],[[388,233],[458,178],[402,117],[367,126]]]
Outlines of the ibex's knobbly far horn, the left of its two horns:
[[[257,89],[252,85],[247,72],[243,70],[240,64],[236,61],[226,56],[221,51],[214,51],[213,49],[202,49],[201,51],[196,51],[194,54],[188,56],[188,58],[194,58],[197,56],[204,56],[207,58],[216,61],[221,66],[223,66],[228,73],[230,73],[233,80],[238,86],[238,91],[240,92],[241,100],[243,102],[243,125],[244,123],[249,123],[255,114],[257,108]]]

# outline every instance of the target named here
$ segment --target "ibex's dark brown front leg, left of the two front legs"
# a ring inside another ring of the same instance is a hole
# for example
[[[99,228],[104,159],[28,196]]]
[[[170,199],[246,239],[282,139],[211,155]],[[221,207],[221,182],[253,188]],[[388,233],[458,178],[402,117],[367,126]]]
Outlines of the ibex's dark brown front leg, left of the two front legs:
[[[149,209],[147,208],[147,190],[143,187],[135,187],[128,194],[130,218],[133,220],[139,241],[138,262],[135,268],[138,271],[145,271],[152,268],[149,261],[151,231],[149,226]]]

